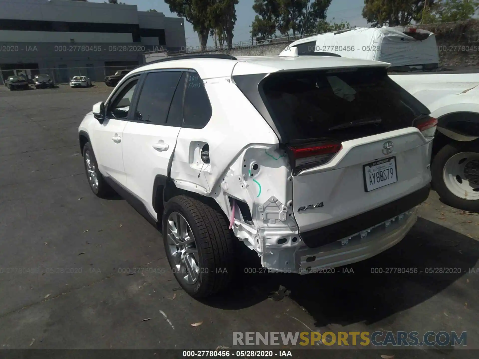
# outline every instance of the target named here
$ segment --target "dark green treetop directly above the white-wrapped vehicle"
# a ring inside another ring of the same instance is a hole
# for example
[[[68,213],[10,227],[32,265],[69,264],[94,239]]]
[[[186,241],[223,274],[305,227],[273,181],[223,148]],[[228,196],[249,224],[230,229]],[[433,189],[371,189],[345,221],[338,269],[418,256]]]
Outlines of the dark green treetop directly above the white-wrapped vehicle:
[[[364,0],[363,17],[373,26],[404,26],[422,18],[425,2],[435,0]]]

